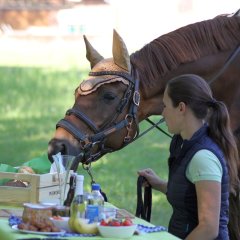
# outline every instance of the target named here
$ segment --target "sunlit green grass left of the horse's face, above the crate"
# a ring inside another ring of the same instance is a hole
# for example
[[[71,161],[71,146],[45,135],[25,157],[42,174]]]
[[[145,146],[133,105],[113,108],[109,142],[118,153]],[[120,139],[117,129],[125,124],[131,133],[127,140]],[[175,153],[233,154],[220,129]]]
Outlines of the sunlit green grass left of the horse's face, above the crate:
[[[0,67],[2,162],[20,164],[46,151],[80,77],[76,70]]]

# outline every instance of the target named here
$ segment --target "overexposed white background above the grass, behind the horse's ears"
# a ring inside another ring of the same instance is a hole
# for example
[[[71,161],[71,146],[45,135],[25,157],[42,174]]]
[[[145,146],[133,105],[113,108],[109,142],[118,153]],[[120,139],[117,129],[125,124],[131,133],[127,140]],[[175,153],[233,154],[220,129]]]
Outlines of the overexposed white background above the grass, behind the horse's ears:
[[[0,0],[0,7],[2,1],[10,2]],[[11,0],[14,1],[20,0]],[[29,1],[37,3],[39,0]],[[0,52],[5,53],[0,64],[32,64],[29,59],[34,58],[38,60],[35,65],[67,67],[68,59],[69,66],[89,67],[83,34],[87,35],[102,56],[111,57],[113,28],[122,36],[129,53],[132,53],[151,40],[179,27],[236,12],[240,8],[240,0],[71,1],[75,1],[75,7],[54,11],[48,26],[31,26],[17,31],[5,28],[0,33]]]

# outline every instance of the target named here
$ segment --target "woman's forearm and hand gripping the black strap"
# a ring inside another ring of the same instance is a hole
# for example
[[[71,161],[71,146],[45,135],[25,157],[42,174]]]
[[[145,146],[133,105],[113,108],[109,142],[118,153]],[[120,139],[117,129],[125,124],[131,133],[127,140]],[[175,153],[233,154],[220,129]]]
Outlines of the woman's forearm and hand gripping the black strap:
[[[145,177],[153,189],[166,194],[167,181],[159,178],[151,168],[138,171],[138,175]]]

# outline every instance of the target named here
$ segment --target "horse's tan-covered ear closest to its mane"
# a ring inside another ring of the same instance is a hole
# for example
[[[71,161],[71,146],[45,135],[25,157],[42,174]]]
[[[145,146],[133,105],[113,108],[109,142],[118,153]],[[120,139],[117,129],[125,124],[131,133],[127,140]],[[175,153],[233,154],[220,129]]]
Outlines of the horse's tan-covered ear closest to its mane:
[[[127,47],[115,29],[113,30],[112,52],[114,63],[124,70],[131,72],[130,57]]]

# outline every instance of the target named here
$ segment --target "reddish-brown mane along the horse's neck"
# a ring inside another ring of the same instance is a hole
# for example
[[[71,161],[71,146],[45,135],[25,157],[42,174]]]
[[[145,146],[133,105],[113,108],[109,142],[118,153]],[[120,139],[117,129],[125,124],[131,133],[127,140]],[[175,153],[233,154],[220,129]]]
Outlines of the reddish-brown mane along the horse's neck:
[[[230,50],[240,44],[240,17],[219,16],[162,35],[131,54],[143,89],[180,64]]]

